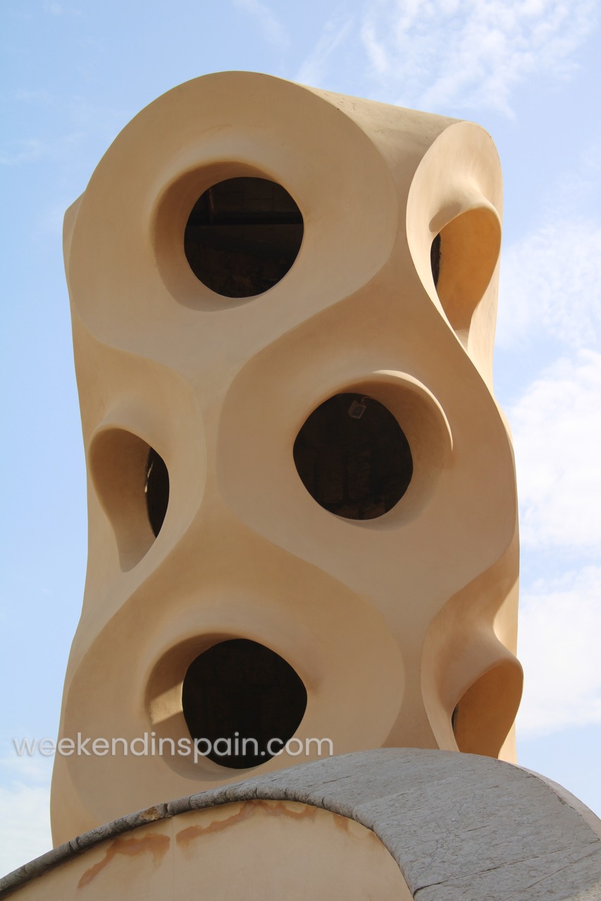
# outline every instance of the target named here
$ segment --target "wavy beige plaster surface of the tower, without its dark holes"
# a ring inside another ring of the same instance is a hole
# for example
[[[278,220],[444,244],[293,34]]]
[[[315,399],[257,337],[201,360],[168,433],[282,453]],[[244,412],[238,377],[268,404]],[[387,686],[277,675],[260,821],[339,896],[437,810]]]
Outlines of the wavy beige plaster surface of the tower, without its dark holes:
[[[245,175],[290,192],[304,237],[280,283],[233,301],[193,275],[182,236],[206,187]],[[497,155],[476,125],[273,77],[196,79],[119,135],[65,220],[89,555],[61,736],[186,735],[187,667],[239,637],[301,677],[303,741],[511,758],[522,676],[513,455],[491,387],[500,215]],[[409,490],[378,519],[329,514],[294,467],[302,423],[342,391],[380,400],[411,445]],[[139,487],[149,445],[171,485],[156,540]],[[244,775],[58,757],[55,841]]]

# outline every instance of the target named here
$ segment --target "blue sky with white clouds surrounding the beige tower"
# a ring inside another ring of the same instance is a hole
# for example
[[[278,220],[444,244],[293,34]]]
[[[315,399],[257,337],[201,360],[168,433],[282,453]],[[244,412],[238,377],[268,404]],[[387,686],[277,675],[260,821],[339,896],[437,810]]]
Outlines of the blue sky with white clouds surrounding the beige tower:
[[[64,210],[144,105],[250,69],[471,119],[504,168],[495,390],[522,530],[522,765],[601,813],[601,10],[595,0],[5,0],[0,872],[50,847],[51,760],[86,566]]]

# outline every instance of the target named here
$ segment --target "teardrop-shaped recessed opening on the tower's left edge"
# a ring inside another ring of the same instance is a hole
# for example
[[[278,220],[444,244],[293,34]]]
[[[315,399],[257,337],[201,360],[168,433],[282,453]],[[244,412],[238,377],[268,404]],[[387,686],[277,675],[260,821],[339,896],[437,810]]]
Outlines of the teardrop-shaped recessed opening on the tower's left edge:
[[[143,559],[161,531],[169,497],[167,468],[150,444],[115,427],[97,433],[88,457],[92,482],[115,532],[119,562],[126,572]],[[163,496],[158,502],[148,496],[156,484],[156,470],[162,470]]]

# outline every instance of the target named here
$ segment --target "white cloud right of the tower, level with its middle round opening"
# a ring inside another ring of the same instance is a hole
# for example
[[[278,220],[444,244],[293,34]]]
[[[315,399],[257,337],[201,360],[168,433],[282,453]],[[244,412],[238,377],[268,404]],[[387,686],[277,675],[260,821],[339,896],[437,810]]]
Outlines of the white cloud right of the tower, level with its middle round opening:
[[[560,359],[508,411],[521,540],[537,550],[601,548],[601,353]]]

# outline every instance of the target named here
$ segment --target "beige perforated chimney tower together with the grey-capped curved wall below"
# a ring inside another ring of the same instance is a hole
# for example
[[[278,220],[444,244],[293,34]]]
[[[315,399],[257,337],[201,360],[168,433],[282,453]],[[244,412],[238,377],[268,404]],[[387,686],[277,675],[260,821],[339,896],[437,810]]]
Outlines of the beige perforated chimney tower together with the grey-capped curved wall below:
[[[118,136],[65,219],[89,507],[66,843],[0,896],[596,896],[599,821],[501,762],[500,243],[472,123],[228,72]]]

